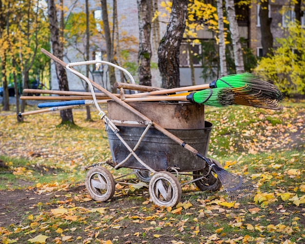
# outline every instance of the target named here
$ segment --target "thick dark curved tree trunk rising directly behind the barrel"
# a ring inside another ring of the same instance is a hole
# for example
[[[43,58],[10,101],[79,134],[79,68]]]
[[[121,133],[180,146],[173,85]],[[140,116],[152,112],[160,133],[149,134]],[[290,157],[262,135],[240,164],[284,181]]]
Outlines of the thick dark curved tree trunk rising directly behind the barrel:
[[[158,48],[158,67],[162,87],[171,89],[180,86],[179,49],[186,26],[188,0],[173,0],[172,13],[166,33]]]

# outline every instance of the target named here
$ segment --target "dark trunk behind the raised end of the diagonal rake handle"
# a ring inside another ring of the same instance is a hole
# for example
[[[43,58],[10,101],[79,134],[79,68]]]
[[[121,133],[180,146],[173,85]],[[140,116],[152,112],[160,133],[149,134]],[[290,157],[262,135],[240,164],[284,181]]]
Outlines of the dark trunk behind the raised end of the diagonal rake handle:
[[[53,55],[59,58],[60,60],[63,60],[63,43],[59,37],[57,10],[54,0],[48,0],[48,14],[49,14]],[[65,68],[62,67],[57,62],[55,62],[55,68],[56,68],[59,90],[69,91],[68,78]],[[66,123],[74,124],[73,113],[71,109],[61,110],[60,117],[61,117],[61,124],[66,124]]]

